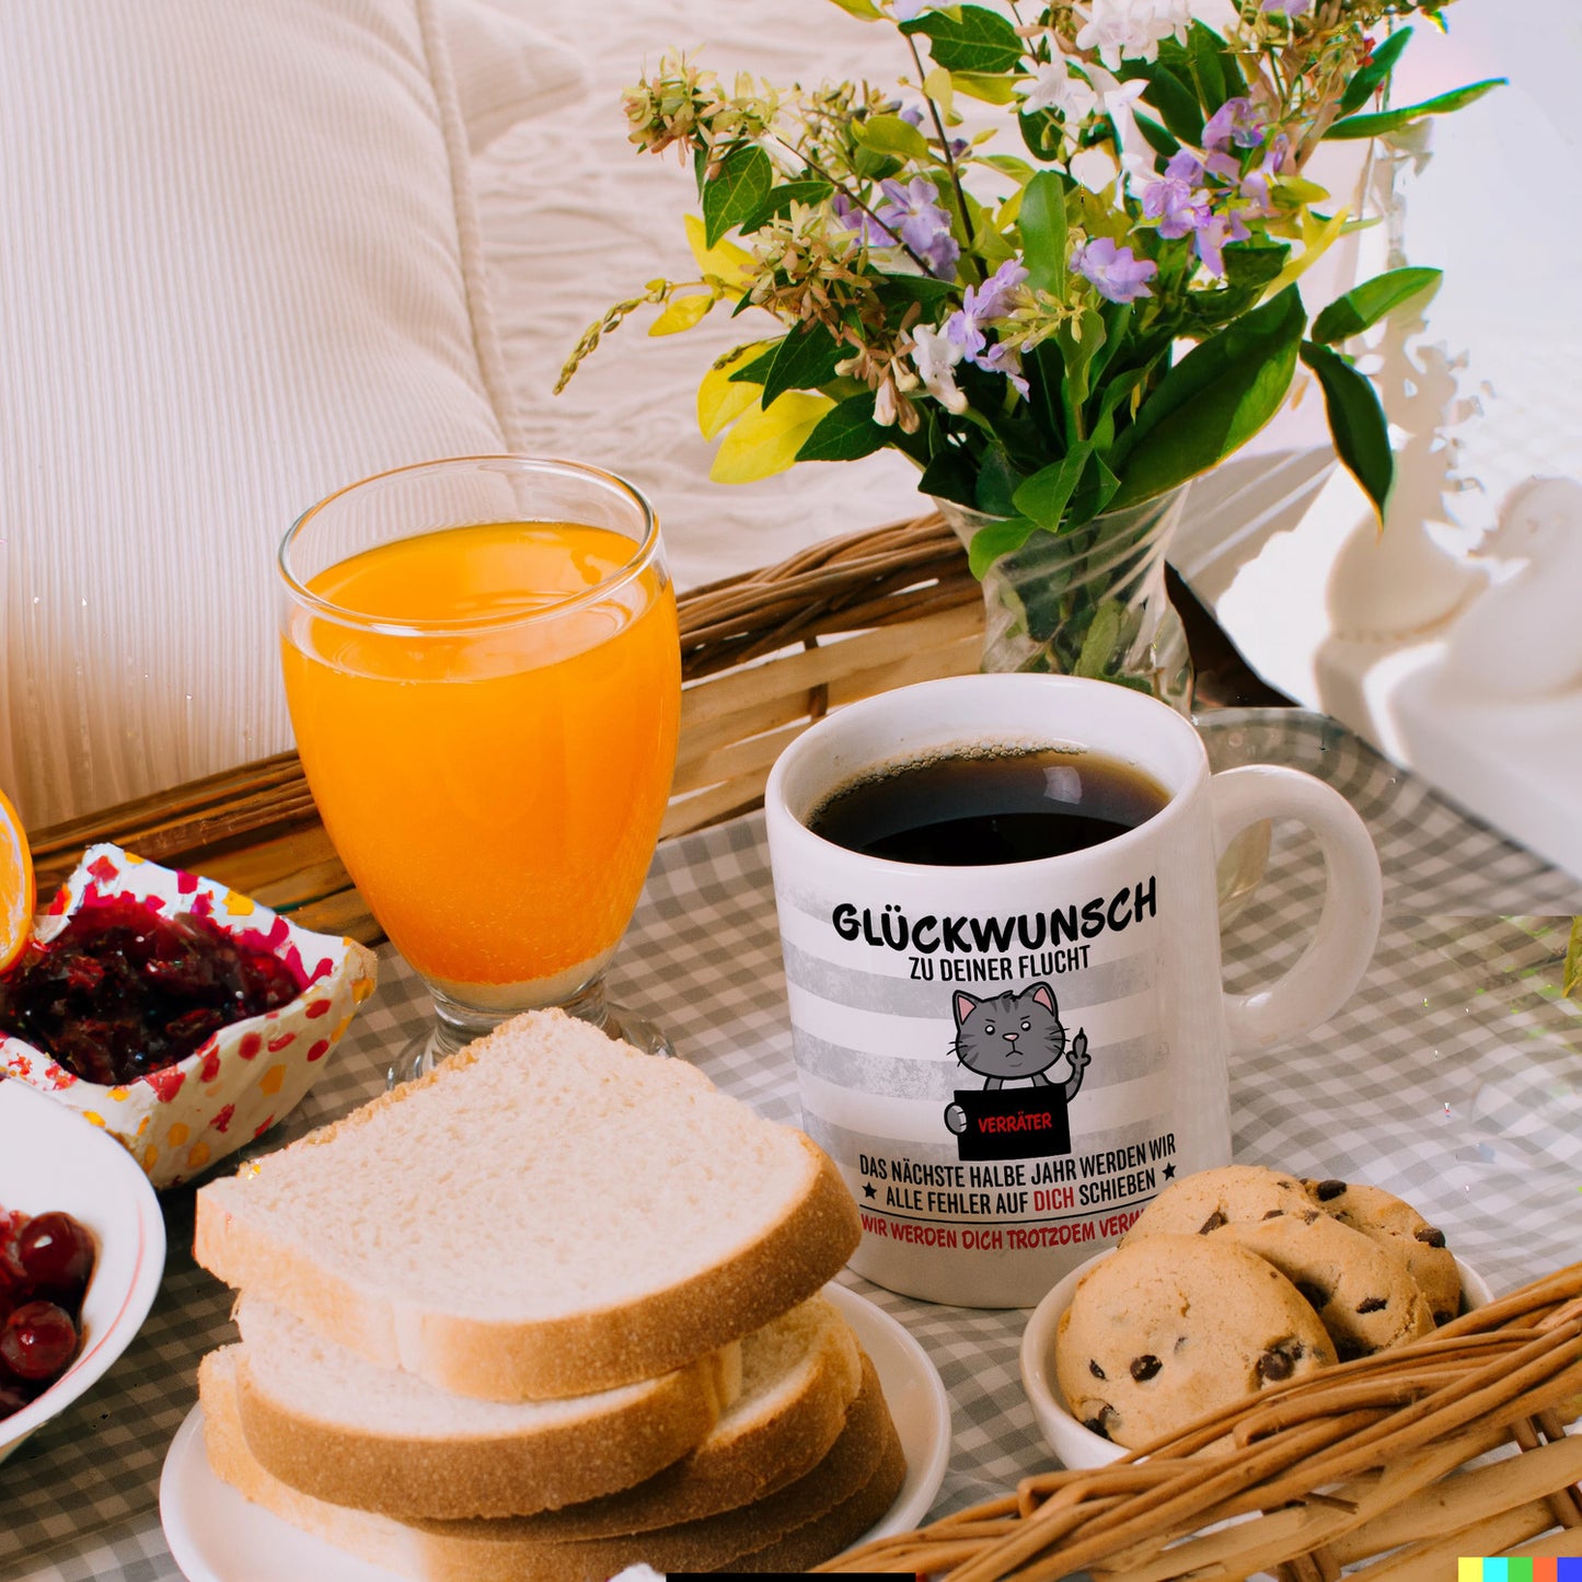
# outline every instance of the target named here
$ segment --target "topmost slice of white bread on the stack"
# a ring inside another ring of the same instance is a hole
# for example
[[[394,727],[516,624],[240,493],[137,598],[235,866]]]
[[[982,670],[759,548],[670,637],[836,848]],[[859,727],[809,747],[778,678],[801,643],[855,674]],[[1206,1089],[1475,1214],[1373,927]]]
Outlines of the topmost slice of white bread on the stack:
[[[201,1188],[193,1253],[384,1367],[533,1400],[740,1340],[859,1237],[800,1131],[541,1011]]]

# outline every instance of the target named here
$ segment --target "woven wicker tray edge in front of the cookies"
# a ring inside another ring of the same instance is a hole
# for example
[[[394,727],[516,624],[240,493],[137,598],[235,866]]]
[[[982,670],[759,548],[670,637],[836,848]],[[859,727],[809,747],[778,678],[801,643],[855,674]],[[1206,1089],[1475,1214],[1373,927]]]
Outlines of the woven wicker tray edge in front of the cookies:
[[[1444,1582],[1582,1555],[1582,1264],[1424,1340],[1275,1386],[1109,1467],[878,1539],[821,1571],[951,1582]],[[1511,1451],[1517,1454],[1511,1454]],[[1490,1454],[1504,1452],[1504,1454]]]

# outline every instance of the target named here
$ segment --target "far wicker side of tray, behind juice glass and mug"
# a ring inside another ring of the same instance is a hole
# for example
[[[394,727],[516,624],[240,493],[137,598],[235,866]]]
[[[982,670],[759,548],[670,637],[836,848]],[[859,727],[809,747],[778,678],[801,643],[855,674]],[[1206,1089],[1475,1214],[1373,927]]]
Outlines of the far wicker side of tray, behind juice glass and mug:
[[[982,645],[981,590],[938,516],[827,539],[679,607],[685,693],[664,835],[761,804],[780,748],[827,710],[973,671]],[[33,832],[40,894],[97,840],[221,880],[304,927],[383,938],[296,753]]]

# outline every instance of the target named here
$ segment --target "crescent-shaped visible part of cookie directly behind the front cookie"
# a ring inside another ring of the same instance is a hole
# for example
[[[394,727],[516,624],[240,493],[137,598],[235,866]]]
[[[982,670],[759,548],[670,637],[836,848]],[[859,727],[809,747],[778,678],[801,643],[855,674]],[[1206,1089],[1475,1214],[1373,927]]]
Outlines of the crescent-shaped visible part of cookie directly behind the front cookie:
[[[1209,1240],[1221,1239],[1267,1259],[1302,1292],[1342,1362],[1433,1329],[1433,1310],[1405,1262],[1327,1213],[1223,1224]]]

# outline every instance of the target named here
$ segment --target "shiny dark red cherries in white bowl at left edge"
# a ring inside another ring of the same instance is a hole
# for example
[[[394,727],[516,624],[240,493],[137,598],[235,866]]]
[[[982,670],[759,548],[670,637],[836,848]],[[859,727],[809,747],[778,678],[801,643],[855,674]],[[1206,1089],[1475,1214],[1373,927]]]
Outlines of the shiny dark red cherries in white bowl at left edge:
[[[0,1419],[70,1367],[92,1274],[93,1236],[70,1213],[0,1209]]]

